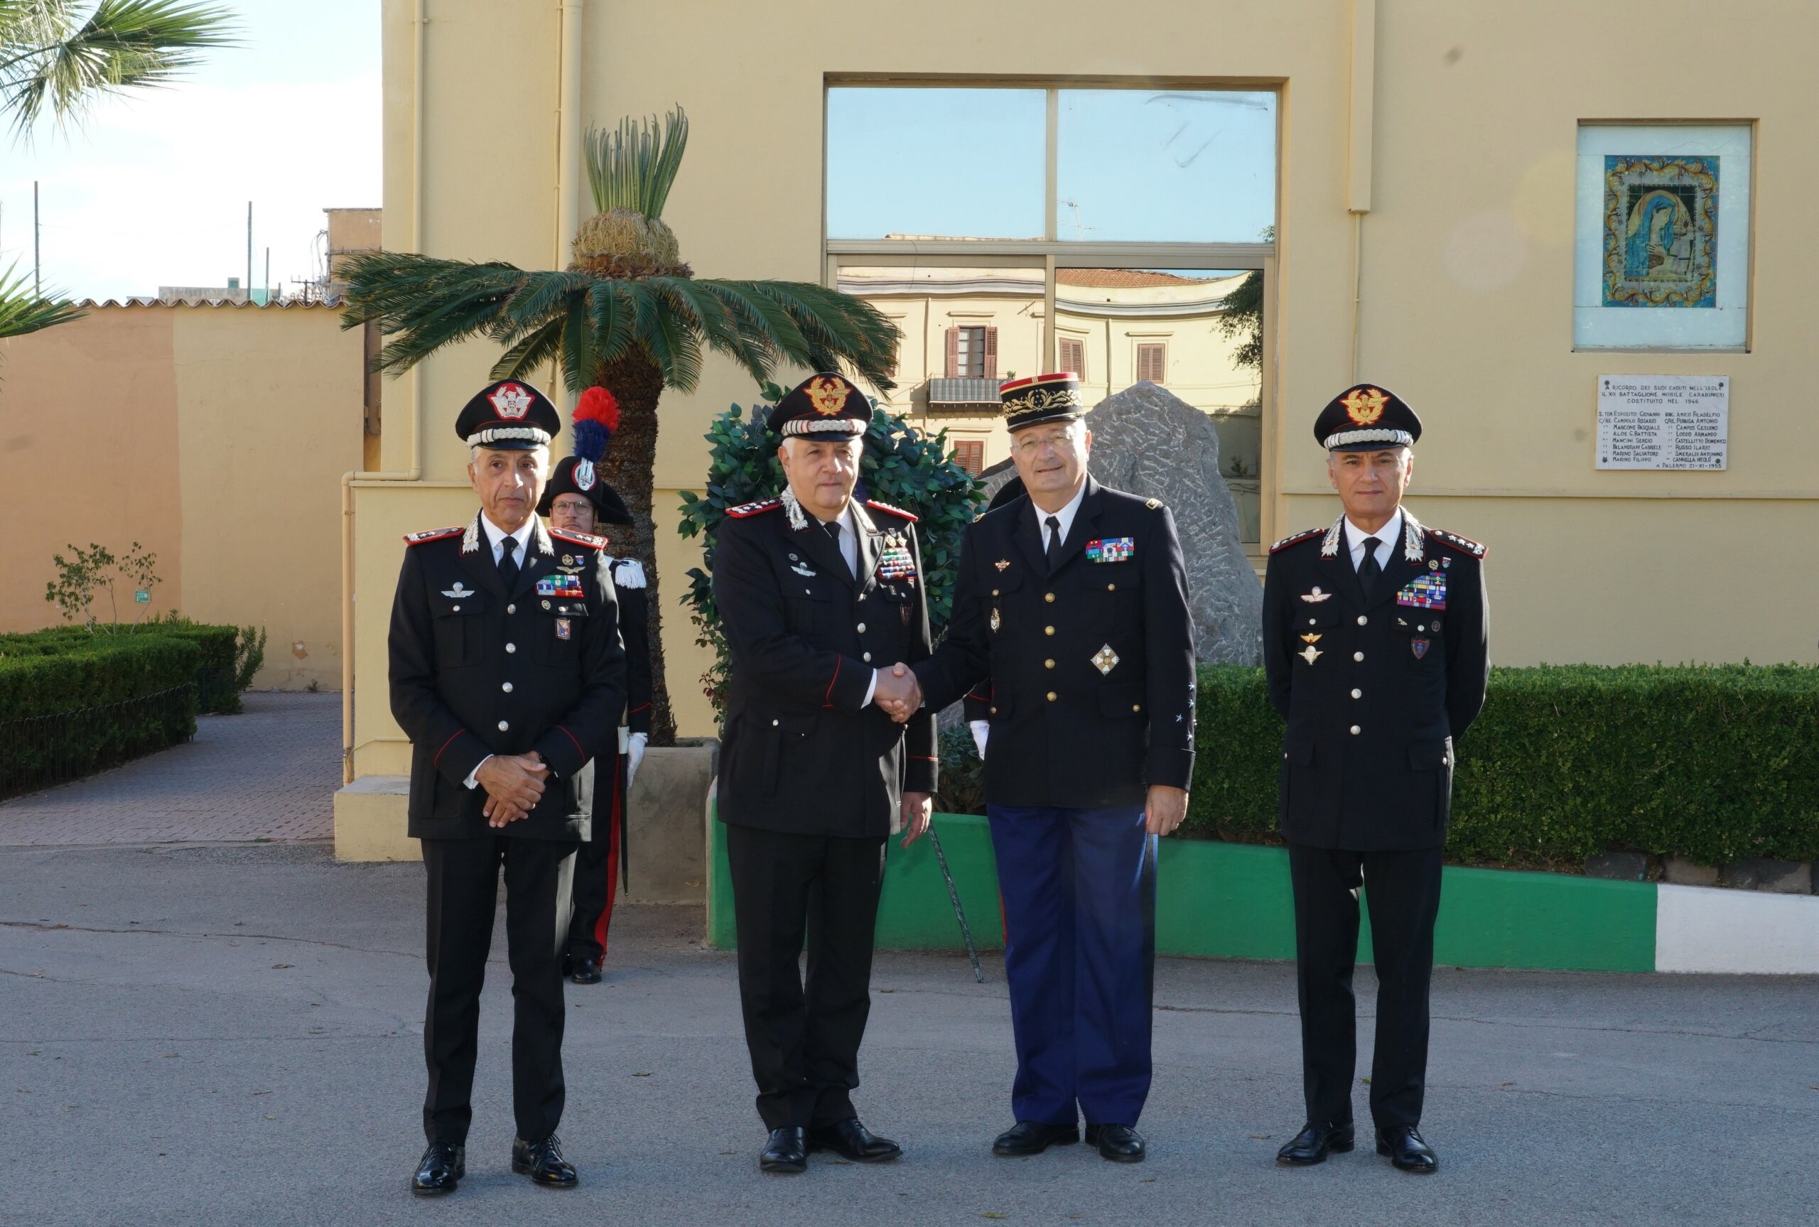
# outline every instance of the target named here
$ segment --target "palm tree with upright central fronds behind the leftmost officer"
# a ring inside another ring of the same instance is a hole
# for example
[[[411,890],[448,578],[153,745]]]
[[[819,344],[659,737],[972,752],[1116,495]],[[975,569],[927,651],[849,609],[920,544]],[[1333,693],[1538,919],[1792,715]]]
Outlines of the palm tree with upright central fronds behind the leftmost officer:
[[[675,738],[675,718],[664,689],[651,522],[657,400],[666,387],[693,391],[708,349],[760,384],[782,364],[815,371],[844,364],[888,391],[899,336],[877,307],[824,285],[697,280],[662,222],[686,145],[680,107],[660,127],[653,116],[624,120],[617,131],[589,129],[588,184],[598,213],[580,224],[562,271],[373,251],[342,273],[346,325],[378,324],[393,338],[380,369],[404,371],[444,345],[487,336],[504,349],[493,378],[557,362],[571,393],[604,385],[618,398],[618,431],[600,469],[637,518],[615,553],[638,558],[651,585],[658,745]]]

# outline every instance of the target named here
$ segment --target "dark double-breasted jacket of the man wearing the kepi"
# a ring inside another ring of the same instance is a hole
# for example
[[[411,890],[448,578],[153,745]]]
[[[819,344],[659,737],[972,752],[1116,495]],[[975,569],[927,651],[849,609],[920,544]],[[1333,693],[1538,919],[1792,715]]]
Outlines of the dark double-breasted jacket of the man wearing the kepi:
[[[959,567],[917,678],[933,711],[990,685],[990,803],[1100,809],[1190,785],[1193,622],[1168,507],[1088,476],[1053,574],[1028,496],[966,529]]]

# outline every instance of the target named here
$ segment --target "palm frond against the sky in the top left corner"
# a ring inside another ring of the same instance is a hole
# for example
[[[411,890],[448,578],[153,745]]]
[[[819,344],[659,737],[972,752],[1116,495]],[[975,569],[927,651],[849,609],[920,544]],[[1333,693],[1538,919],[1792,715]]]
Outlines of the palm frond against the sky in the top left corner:
[[[102,0],[76,25],[69,0],[13,0],[0,11],[0,111],[25,136],[45,113],[64,122],[102,95],[169,85],[236,35],[213,4]]]

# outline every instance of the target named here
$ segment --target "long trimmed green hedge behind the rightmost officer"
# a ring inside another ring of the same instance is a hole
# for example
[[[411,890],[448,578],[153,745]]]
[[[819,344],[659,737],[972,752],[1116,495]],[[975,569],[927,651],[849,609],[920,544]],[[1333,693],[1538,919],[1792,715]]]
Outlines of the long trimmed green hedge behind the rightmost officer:
[[[1186,833],[1273,838],[1282,720],[1262,669],[1201,669]],[[1819,669],[1493,669],[1461,738],[1452,860],[1579,869],[1633,849],[1819,858]]]

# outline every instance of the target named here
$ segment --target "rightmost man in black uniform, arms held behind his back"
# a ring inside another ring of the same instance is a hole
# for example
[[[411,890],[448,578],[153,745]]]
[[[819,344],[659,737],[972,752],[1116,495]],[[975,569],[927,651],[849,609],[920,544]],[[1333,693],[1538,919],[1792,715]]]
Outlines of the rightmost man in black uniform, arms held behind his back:
[[[1459,738],[1484,705],[1484,547],[1402,505],[1421,418],[1359,384],[1313,424],[1344,514],[1270,547],[1262,596],[1270,700],[1282,736],[1281,825],[1295,891],[1302,1131],[1277,1152],[1319,1163],[1353,1147],[1352,971],[1359,887],[1377,958],[1370,1111],[1377,1152],[1410,1172],[1421,1136],[1428,980]]]

